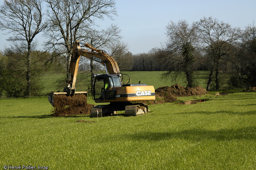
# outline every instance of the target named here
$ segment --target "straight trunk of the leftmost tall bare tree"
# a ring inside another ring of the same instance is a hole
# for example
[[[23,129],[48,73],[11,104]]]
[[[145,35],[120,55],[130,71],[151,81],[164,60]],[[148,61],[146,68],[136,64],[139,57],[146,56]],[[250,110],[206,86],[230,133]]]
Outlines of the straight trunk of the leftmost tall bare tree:
[[[27,80],[27,91],[26,91],[27,96],[31,97],[31,43],[30,42],[28,42],[26,80]]]

